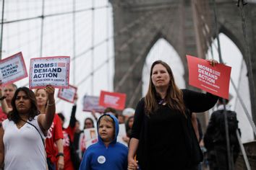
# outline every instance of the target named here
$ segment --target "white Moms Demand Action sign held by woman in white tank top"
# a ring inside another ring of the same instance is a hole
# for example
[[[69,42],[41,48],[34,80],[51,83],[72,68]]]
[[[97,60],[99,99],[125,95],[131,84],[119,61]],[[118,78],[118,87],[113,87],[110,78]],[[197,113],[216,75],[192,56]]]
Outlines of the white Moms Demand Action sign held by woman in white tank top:
[[[31,58],[30,89],[43,88],[48,84],[56,88],[69,88],[70,57]]]

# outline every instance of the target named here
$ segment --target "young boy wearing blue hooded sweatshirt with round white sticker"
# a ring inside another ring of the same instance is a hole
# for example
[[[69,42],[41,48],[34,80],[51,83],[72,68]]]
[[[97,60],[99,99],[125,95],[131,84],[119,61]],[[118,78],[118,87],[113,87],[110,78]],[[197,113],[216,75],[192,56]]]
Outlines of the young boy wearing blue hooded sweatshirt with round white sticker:
[[[114,115],[104,114],[97,122],[98,142],[89,146],[82,157],[80,170],[127,169],[128,148],[116,142],[119,122]]]

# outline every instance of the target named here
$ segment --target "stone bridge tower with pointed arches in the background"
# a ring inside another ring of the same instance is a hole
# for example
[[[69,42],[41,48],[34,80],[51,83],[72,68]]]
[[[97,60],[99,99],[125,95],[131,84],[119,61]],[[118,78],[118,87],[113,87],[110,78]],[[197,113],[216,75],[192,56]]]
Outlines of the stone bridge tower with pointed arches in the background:
[[[216,37],[213,1],[205,0],[110,0],[114,10],[115,91],[127,94],[127,105],[135,107],[142,97],[142,68],[150,48],[163,37],[177,51],[184,64],[188,85],[186,54],[205,58]],[[216,0],[218,32],[227,35],[241,50],[249,66],[242,18],[236,1]],[[256,84],[256,4],[244,6],[252,63],[249,77],[251,101]],[[191,86],[187,86],[191,88]],[[255,103],[255,102],[254,102]],[[253,120],[256,106],[252,102]]]

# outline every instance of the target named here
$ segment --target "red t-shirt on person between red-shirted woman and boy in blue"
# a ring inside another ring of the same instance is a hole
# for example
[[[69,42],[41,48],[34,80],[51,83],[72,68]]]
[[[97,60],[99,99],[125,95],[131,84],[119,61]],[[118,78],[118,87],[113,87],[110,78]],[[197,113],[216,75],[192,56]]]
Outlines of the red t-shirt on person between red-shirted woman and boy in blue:
[[[64,170],[74,170],[72,160],[70,158],[70,140],[74,140],[74,128],[70,126],[63,129],[63,143],[64,143]],[[69,140],[70,138],[70,140]]]

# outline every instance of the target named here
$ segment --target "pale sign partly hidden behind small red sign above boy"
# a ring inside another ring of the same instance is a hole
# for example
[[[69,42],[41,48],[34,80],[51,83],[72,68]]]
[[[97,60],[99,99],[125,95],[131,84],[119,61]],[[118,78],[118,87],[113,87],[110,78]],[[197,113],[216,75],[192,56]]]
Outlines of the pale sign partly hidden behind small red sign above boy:
[[[83,100],[83,111],[85,112],[91,112],[91,111],[95,111],[95,112],[104,112],[104,110],[106,109],[106,107],[102,107],[98,104],[99,101],[99,97],[93,97],[93,96],[86,96],[84,97]]]

